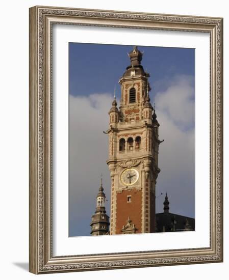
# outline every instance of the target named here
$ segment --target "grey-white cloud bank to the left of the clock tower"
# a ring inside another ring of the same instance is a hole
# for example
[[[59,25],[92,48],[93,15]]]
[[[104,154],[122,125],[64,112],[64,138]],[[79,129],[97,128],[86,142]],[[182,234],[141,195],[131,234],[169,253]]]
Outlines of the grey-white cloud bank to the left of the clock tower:
[[[103,185],[110,212],[110,175],[108,159],[108,111],[112,95],[92,94],[88,97],[69,96],[69,191],[71,232],[77,232],[82,219],[90,234],[91,215],[103,173]],[[81,229],[80,229],[81,230]]]

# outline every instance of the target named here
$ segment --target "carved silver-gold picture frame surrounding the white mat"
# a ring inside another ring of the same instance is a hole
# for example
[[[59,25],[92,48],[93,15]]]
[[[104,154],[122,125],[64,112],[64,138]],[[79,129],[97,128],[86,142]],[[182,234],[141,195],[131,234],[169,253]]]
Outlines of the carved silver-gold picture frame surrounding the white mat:
[[[210,247],[53,256],[52,25],[78,24],[210,34]],[[222,262],[222,18],[30,8],[30,272],[67,272]]]

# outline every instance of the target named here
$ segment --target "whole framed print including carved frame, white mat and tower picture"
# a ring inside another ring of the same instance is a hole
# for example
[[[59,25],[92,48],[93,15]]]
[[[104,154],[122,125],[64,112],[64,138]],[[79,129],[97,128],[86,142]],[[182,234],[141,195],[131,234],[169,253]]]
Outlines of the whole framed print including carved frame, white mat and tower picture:
[[[30,271],[222,260],[222,18],[31,8]]]

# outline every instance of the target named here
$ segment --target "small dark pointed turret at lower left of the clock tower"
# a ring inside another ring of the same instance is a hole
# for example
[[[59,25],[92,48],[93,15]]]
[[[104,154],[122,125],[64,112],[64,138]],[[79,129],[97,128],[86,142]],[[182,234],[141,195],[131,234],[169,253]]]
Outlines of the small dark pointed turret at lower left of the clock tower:
[[[91,219],[91,235],[105,235],[109,232],[110,222],[109,216],[106,214],[105,200],[106,196],[101,179],[101,185],[96,197],[96,210]]]

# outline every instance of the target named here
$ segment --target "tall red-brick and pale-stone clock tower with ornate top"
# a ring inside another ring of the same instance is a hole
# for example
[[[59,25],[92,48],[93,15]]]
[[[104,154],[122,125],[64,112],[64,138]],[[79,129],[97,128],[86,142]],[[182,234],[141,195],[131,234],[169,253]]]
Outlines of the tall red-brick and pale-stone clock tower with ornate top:
[[[158,168],[159,123],[150,104],[149,74],[142,52],[129,53],[131,65],[119,80],[120,107],[114,97],[109,111],[111,175],[110,234],[155,232],[155,186]]]

